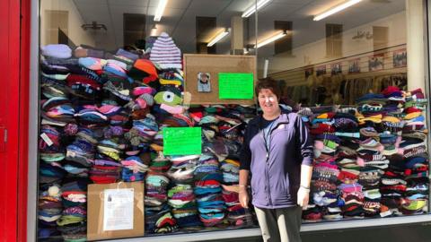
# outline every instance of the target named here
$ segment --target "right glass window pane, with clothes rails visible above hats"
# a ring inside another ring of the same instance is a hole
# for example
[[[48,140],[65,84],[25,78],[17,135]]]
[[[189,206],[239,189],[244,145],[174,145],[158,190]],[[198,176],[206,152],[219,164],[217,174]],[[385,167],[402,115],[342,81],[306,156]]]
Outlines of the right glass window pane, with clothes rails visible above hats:
[[[352,5],[315,20],[343,4]],[[271,1],[259,12],[258,45],[279,35],[258,50],[259,77],[278,81],[280,102],[302,116],[314,137],[303,221],[427,212],[425,63],[412,48],[424,46],[416,39],[424,36],[423,18],[413,25],[421,7]]]

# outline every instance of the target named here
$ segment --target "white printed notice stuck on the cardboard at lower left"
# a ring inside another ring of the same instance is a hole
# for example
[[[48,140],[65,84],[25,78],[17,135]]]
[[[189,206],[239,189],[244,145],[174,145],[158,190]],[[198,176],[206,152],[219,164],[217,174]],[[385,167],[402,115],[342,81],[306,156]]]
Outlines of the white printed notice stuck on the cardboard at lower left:
[[[133,229],[134,189],[105,189],[103,230]]]

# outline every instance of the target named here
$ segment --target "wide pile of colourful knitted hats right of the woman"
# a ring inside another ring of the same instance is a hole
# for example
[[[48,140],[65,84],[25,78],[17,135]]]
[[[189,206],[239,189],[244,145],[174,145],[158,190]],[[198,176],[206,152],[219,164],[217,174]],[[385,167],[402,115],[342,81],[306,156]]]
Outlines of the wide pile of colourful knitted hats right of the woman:
[[[331,107],[301,108],[315,138],[303,220],[339,219],[337,206],[345,218],[427,212],[426,103],[420,89],[388,87],[365,94],[356,107],[335,107],[335,114]]]

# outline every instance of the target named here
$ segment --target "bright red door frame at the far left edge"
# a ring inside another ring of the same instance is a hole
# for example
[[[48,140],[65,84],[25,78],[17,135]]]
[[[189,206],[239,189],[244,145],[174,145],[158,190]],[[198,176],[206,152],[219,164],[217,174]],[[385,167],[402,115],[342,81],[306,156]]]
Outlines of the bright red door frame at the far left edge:
[[[0,240],[8,242],[27,238],[30,9],[30,0],[0,1]]]

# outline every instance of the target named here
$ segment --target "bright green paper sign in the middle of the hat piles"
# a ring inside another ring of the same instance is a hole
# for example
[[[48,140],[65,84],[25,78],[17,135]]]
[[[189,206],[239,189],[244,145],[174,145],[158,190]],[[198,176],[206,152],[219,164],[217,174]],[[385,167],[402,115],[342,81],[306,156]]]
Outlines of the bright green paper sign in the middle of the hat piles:
[[[191,155],[202,153],[200,127],[163,128],[164,155]]]

